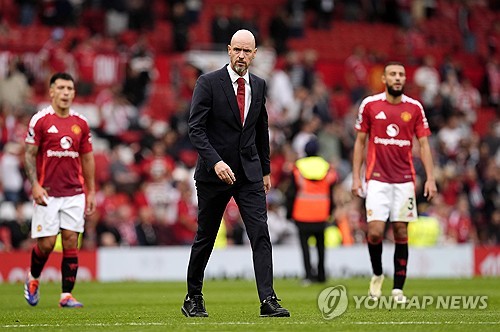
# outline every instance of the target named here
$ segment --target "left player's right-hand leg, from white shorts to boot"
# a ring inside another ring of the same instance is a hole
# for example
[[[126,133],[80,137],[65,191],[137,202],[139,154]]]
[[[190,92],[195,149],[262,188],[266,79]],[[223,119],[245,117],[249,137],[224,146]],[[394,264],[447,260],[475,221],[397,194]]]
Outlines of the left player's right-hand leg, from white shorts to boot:
[[[80,308],[83,304],[78,302],[71,294],[75,287],[78,273],[78,235],[84,229],[85,196],[76,195],[62,197],[61,206],[61,242],[63,258],[61,261],[62,292],[59,306],[64,308]]]

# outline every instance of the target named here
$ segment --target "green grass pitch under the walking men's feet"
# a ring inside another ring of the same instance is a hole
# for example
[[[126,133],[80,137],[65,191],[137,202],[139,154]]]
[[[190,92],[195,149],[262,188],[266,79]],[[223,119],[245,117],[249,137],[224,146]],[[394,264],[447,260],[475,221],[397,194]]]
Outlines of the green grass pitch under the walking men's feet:
[[[2,331],[500,331],[500,279],[408,279],[407,296],[486,295],[486,309],[356,309],[353,295],[366,295],[368,278],[334,279],[304,287],[296,279],[275,280],[290,318],[260,318],[254,281],[206,280],[208,318],[186,318],[180,307],[182,282],[80,282],[82,309],[58,308],[59,283],[41,283],[40,303],[30,307],[23,285],[0,284]],[[343,285],[347,311],[323,319],[318,294]],[[386,279],[384,295],[392,280]]]

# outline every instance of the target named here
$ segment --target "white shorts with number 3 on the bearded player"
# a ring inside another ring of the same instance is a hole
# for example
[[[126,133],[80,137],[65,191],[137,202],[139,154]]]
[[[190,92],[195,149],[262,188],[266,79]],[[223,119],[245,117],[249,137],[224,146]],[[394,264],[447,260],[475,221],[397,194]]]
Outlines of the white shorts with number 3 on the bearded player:
[[[370,180],[366,188],[366,220],[414,221],[417,216],[415,184]]]

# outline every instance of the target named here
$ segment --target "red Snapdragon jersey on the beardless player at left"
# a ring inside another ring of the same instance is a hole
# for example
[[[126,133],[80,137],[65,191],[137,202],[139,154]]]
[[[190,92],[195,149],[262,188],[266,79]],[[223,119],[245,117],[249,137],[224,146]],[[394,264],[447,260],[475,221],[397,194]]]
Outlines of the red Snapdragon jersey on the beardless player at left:
[[[61,118],[49,106],[33,115],[25,142],[38,146],[38,181],[50,196],[83,193],[80,156],[92,151],[87,119],[73,110]]]

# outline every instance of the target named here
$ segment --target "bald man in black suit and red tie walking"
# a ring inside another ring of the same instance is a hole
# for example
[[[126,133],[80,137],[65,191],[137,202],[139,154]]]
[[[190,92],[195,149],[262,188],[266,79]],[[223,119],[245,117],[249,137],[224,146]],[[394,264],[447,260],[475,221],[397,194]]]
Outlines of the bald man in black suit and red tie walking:
[[[208,317],[202,287],[227,203],[234,197],[253,251],[261,317],[289,317],[273,289],[266,193],[271,188],[266,83],[250,74],[255,37],[238,30],[228,45],[230,63],[199,77],[189,115],[189,137],[198,151],[194,178],[198,231],[191,248],[186,317]]]

